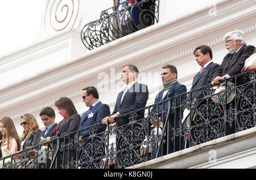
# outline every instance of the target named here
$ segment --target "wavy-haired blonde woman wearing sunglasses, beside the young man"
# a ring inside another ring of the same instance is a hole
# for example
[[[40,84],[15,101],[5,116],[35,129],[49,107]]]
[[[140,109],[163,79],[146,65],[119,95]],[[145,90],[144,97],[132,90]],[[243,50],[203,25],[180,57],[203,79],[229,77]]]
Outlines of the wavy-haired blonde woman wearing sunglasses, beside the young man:
[[[19,142],[19,151],[23,151],[26,147],[37,145],[41,130],[34,115],[24,114],[20,117],[20,125],[24,128],[23,138]]]

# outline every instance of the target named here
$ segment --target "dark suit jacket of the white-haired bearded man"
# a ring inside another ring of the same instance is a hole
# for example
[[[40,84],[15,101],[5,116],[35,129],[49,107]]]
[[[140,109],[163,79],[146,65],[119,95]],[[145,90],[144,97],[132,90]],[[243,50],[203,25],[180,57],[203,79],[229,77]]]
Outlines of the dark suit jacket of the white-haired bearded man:
[[[228,53],[224,57],[220,67],[214,73],[212,80],[214,78],[216,78],[216,76],[224,76],[226,74],[228,74],[230,76],[234,76],[234,75],[240,74],[243,66],[245,65],[245,60],[247,58],[249,58],[251,54],[253,54],[254,49],[255,49],[254,46],[251,46],[251,45],[246,46],[246,45],[244,45],[236,53],[236,55],[234,56],[234,58],[232,59],[231,62],[229,62],[229,60],[231,59],[232,54]],[[241,85],[243,83],[245,83],[245,79],[243,79],[242,76],[238,77],[237,78],[237,84]]]

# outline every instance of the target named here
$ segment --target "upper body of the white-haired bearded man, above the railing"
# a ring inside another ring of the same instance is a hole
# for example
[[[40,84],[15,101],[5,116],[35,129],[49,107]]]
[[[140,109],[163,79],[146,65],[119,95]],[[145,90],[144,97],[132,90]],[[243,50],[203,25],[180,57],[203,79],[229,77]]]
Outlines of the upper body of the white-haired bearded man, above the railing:
[[[224,36],[226,49],[229,51],[220,67],[214,72],[212,84],[219,84],[222,80],[241,73],[245,60],[253,54],[255,47],[246,45],[242,31],[234,30]],[[238,77],[236,85],[244,84],[243,77]]]

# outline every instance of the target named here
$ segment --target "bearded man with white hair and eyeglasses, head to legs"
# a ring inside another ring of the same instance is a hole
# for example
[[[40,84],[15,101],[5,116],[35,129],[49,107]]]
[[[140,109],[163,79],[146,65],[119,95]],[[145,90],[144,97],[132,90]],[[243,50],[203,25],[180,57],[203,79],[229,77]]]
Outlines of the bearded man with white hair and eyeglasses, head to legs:
[[[245,60],[253,54],[255,49],[252,45],[246,45],[245,35],[239,30],[226,33],[224,40],[229,53],[225,55],[220,67],[214,72],[212,84],[219,85],[222,80],[240,74]],[[226,111],[226,113],[222,112],[224,121],[219,119],[224,123],[220,128],[223,128],[225,135],[250,128],[254,121],[251,113],[253,105],[250,103],[253,102],[253,93],[251,93],[253,89],[246,85],[249,80],[241,75],[230,79],[230,81],[234,83],[234,87],[236,87],[234,90],[238,92],[239,96],[233,98],[229,104],[219,103],[221,110]],[[226,95],[228,96],[228,92]],[[224,114],[226,115],[224,116]]]

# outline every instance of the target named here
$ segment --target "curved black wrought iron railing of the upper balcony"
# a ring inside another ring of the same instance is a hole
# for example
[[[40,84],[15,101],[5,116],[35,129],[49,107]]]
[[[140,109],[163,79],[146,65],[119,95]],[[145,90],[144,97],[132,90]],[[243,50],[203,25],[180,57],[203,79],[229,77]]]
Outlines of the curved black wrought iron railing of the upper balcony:
[[[158,23],[159,1],[121,1],[120,4],[102,11],[100,19],[85,24],[82,28],[82,42],[91,50]]]

